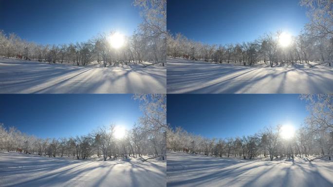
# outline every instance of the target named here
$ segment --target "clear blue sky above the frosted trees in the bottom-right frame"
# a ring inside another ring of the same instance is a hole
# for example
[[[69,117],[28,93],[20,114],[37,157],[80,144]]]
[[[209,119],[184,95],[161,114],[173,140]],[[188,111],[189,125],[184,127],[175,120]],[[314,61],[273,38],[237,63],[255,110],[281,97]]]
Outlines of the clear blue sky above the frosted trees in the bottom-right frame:
[[[253,135],[277,124],[297,129],[307,115],[298,94],[167,95],[167,123],[210,138]]]

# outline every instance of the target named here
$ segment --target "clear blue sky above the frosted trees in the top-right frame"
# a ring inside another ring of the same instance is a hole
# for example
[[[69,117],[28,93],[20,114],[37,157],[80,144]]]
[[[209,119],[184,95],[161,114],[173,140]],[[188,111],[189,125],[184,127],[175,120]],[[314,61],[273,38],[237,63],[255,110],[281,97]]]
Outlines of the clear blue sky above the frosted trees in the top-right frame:
[[[253,41],[277,30],[297,35],[308,21],[299,0],[167,0],[167,29],[208,44]]]

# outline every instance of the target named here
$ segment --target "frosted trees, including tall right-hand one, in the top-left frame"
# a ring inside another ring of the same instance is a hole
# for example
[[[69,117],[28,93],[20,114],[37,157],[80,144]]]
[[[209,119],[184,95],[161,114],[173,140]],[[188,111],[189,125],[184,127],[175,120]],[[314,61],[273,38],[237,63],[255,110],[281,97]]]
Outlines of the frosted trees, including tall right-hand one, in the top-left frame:
[[[166,1],[134,0],[140,7],[144,22],[132,36],[125,38],[125,44],[114,49],[110,36],[114,32],[103,33],[85,42],[61,45],[41,45],[22,40],[11,33],[0,30],[0,56],[15,57],[26,60],[38,60],[49,63],[73,63],[87,65],[102,63],[109,65],[143,63],[164,65],[166,59]],[[156,19],[159,18],[159,19]]]

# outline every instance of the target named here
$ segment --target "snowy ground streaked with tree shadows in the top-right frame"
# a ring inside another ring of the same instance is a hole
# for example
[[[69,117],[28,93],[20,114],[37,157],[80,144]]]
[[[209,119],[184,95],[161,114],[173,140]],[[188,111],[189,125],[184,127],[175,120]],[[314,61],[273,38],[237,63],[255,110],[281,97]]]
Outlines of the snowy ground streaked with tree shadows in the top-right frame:
[[[166,62],[167,93],[333,93],[328,66],[245,67],[182,58]]]

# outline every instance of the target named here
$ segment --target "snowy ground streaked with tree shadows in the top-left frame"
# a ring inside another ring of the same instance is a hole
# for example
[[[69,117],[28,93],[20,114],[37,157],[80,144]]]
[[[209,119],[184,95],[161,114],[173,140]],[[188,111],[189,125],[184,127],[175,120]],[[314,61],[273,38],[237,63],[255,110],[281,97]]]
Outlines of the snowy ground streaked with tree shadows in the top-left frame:
[[[166,93],[166,68],[78,67],[0,57],[0,93]]]

